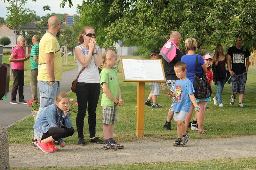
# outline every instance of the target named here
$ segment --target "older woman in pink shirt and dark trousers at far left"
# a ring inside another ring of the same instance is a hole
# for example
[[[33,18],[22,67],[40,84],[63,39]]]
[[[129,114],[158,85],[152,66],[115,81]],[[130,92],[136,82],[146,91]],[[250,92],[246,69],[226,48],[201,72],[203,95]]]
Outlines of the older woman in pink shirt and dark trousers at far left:
[[[23,46],[25,45],[25,38],[19,36],[17,38],[18,45],[12,49],[12,54],[9,61],[12,62],[12,74],[13,74],[13,84],[12,84],[12,96],[11,104],[18,104],[16,102],[16,95],[19,89],[19,103],[27,104],[23,96],[23,86],[24,86],[24,61],[28,60],[26,58]]]

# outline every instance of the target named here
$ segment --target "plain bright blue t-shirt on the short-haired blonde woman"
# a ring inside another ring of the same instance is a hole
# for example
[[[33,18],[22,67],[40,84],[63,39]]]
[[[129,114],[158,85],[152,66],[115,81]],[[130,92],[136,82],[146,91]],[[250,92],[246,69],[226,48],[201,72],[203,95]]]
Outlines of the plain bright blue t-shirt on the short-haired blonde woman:
[[[187,65],[186,77],[192,82],[192,84],[193,84],[194,75],[195,75],[196,56],[197,54],[183,55],[180,60],[186,63]],[[203,64],[204,64],[203,57],[201,55],[198,55],[196,74],[203,73],[203,68],[202,68]]]

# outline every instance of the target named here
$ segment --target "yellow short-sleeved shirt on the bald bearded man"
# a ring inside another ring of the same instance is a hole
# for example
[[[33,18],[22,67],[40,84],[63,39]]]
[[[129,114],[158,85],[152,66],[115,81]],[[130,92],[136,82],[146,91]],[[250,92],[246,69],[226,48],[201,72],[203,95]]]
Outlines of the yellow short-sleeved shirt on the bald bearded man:
[[[46,54],[54,53],[54,76],[56,81],[62,80],[62,60],[60,54],[60,45],[51,33],[44,34],[39,43],[39,61],[38,61],[38,81],[50,81],[50,77],[46,70]]]

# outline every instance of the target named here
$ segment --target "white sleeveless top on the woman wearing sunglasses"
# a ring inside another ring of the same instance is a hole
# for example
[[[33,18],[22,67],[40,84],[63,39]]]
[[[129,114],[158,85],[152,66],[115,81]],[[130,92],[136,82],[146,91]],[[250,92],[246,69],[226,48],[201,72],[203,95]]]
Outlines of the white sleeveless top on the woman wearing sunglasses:
[[[87,54],[89,53],[89,50],[85,49],[82,46],[76,46],[76,48],[79,48],[83,53],[84,57],[87,57]],[[99,51],[99,46],[95,46],[96,52]],[[77,68],[78,68],[78,73],[82,70],[84,67],[77,59]],[[85,82],[85,83],[100,83],[100,73],[99,69],[96,66],[95,60],[94,60],[94,55],[92,55],[91,62],[89,65],[84,69],[84,71],[79,75],[77,82]]]

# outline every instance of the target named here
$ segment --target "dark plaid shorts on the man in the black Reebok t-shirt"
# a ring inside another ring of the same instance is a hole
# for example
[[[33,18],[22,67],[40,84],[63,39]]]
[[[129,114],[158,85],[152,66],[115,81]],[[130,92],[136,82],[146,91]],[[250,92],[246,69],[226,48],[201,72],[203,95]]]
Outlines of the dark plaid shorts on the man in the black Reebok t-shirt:
[[[244,94],[246,80],[247,80],[246,72],[231,76],[232,92],[235,94],[237,94],[238,92],[241,94]]]

